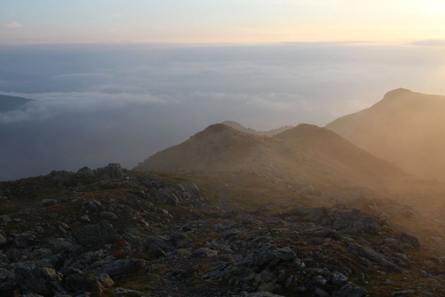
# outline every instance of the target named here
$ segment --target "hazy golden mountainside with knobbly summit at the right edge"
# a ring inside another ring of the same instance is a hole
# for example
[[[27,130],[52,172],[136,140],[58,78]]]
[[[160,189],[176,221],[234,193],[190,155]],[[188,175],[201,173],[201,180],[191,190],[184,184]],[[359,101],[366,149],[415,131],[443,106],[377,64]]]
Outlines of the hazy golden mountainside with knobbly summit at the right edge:
[[[445,180],[445,97],[405,89],[326,128],[422,177]]]

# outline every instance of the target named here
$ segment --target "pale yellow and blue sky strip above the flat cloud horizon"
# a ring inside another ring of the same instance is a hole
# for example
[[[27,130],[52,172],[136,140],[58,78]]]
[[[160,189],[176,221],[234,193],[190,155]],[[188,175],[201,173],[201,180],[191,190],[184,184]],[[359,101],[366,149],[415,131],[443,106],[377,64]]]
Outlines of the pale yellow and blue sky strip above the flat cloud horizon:
[[[445,1],[0,0],[0,42],[4,44],[123,40],[445,40]]]

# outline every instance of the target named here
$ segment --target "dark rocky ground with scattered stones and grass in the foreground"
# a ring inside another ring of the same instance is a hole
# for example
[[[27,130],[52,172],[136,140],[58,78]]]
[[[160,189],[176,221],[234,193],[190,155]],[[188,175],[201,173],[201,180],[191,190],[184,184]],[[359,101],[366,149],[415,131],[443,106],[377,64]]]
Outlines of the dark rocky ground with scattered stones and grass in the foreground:
[[[220,209],[123,170],[0,183],[0,296],[445,296],[445,258],[336,205]]]

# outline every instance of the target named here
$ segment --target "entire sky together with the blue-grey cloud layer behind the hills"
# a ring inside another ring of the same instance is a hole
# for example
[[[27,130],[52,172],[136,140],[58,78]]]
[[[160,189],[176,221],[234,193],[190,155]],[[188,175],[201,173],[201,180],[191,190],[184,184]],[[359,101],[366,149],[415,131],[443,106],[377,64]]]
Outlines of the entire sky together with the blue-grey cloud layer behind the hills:
[[[0,112],[0,180],[445,95],[444,34],[433,0],[0,0],[0,94],[32,99]]]

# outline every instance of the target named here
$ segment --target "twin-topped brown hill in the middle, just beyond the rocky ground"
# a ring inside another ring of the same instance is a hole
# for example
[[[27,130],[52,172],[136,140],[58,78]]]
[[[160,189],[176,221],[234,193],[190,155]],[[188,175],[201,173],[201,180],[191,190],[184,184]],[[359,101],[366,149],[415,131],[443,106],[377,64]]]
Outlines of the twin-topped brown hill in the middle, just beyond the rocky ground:
[[[139,170],[250,172],[326,187],[393,185],[410,177],[328,129],[301,124],[275,137],[215,124],[150,156]]]

